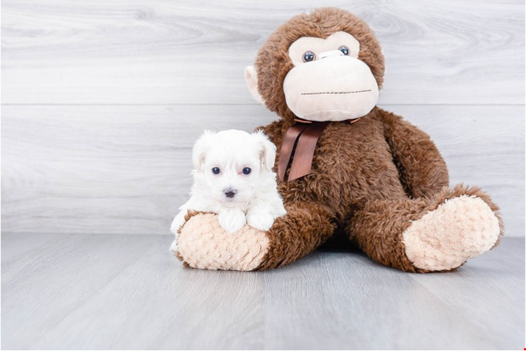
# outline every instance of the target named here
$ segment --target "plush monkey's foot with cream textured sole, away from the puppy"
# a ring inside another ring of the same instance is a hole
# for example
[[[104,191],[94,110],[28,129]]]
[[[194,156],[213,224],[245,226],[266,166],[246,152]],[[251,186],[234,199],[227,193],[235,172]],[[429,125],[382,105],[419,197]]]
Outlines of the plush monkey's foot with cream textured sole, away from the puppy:
[[[407,258],[425,271],[452,270],[492,249],[501,236],[496,206],[476,188],[444,190],[438,206],[403,233]]]

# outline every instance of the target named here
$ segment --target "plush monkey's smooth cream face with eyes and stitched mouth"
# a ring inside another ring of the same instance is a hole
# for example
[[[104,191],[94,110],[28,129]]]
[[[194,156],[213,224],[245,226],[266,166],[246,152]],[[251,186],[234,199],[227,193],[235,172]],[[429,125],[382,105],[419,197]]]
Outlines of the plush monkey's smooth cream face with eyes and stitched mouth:
[[[294,41],[288,49],[294,67],[283,81],[288,108],[309,121],[343,121],[371,112],[378,84],[359,50],[359,41],[346,32]]]

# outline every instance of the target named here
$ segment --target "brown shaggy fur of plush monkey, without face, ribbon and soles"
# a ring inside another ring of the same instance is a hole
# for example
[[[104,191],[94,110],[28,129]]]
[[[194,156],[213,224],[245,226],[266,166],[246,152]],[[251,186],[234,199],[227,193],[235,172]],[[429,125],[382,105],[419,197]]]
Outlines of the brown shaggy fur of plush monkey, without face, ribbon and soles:
[[[369,27],[354,15],[322,8],[298,15],[276,29],[256,60],[259,93],[281,120],[261,129],[281,149],[294,114],[286,105],[283,79],[293,67],[288,46],[300,37],[326,38],[345,31],[360,41],[359,59],[383,83],[380,45]],[[276,165],[278,164],[276,159]],[[425,272],[406,258],[402,232],[411,221],[436,209],[446,199],[477,196],[498,208],[477,188],[447,188],[447,167],[429,136],[390,112],[376,107],[354,124],[332,122],[316,146],[308,176],[279,183],[288,210],[269,230],[271,249],[259,269],[293,262],[337,230],[378,263],[408,272]]]

